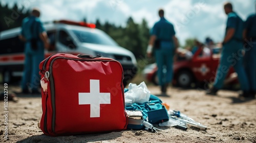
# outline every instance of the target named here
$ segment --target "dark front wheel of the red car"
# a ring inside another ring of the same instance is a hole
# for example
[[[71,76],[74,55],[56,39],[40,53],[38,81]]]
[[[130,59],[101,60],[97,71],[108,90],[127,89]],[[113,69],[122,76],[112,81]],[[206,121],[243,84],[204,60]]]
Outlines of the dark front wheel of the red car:
[[[192,74],[186,70],[181,71],[177,77],[177,84],[181,87],[190,87],[192,81]]]

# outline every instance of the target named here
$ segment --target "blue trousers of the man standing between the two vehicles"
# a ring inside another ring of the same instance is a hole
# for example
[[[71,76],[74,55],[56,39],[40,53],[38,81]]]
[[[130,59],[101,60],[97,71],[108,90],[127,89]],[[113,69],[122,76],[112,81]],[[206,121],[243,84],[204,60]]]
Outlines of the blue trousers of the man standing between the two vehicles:
[[[159,85],[163,86],[166,83],[170,83],[173,80],[173,56],[174,45],[171,42],[161,42],[160,48],[156,49],[156,62],[157,62],[157,76],[159,79]],[[163,72],[164,66],[166,72]]]

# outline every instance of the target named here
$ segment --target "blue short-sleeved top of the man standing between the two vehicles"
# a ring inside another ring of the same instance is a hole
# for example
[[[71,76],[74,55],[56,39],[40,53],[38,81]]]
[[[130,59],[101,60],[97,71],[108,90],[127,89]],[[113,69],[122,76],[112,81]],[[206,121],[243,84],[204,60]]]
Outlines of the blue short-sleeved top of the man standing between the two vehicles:
[[[156,35],[158,40],[173,42],[172,37],[175,35],[175,30],[172,23],[167,21],[164,17],[161,17],[151,29],[150,34]]]

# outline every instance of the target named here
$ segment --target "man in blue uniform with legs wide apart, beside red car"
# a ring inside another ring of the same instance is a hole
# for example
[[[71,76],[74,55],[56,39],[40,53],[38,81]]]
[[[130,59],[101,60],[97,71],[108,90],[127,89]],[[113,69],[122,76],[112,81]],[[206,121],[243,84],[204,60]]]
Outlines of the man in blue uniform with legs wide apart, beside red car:
[[[216,94],[222,88],[229,67],[233,66],[238,74],[238,80],[243,93],[240,96],[249,94],[248,79],[243,67],[243,20],[236,12],[232,10],[232,4],[224,4],[224,10],[227,14],[227,25],[225,37],[222,42],[222,53],[220,64],[215,76],[214,86],[210,88],[207,94]]]

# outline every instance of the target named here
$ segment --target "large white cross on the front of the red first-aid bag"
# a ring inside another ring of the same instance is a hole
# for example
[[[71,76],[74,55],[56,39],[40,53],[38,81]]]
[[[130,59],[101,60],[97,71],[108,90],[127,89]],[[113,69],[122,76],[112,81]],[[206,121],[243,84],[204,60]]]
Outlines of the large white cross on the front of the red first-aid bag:
[[[90,92],[78,93],[79,105],[90,104],[90,117],[100,117],[100,104],[110,104],[110,93],[99,90],[99,80],[90,80]]]

